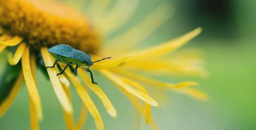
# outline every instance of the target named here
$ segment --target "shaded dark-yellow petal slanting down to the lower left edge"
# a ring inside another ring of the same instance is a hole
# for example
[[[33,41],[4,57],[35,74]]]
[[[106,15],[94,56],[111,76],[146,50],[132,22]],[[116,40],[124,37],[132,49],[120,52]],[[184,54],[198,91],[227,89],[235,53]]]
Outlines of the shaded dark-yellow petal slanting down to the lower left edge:
[[[21,72],[18,76],[18,79],[15,81],[15,84],[12,87],[12,90],[10,91],[9,95],[1,103],[0,117],[2,117],[5,114],[5,112],[8,110],[8,108],[12,105],[12,102],[14,101],[16,95],[18,94],[20,88],[22,87],[22,83],[23,83],[23,73]]]

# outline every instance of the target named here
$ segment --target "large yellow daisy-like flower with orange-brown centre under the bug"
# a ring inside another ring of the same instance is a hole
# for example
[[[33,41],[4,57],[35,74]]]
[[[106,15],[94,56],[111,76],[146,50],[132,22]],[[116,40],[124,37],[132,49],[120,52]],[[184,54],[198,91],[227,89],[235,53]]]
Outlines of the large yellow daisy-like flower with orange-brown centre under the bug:
[[[167,56],[168,53],[172,53],[199,35],[202,31],[201,28],[174,40],[137,50],[133,47],[170,17],[170,14],[167,13],[168,7],[165,3],[159,5],[130,30],[120,33],[114,38],[107,38],[129,20],[138,3],[133,3],[131,8],[125,10],[123,6],[129,2],[119,1],[109,13],[103,14],[102,12],[108,7],[108,4],[109,1],[93,1],[88,9],[89,16],[91,14],[90,17],[95,23],[92,24],[79,11],[60,3],[46,0],[40,2],[35,0],[0,0],[0,52],[12,50],[13,47],[11,46],[16,46],[14,55],[12,57],[8,55],[9,64],[22,66],[20,73],[14,76],[17,78],[11,84],[11,90],[7,91],[6,96],[0,97],[0,116],[8,110],[23,81],[25,81],[29,93],[31,129],[39,129],[38,122],[43,119],[43,114],[36,85],[36,65],[40,65],[37,61],[40,60],[41,56],[45,66],[52,66],[54,59],[48,53],[47,48],[57,44],[68,44],[82,50],[90,54],[93,61],[111,56],[111,60],[97,62],[91,68],[113,82],[131,100],[141,115],[145,116],[146,122],[151,125],[152,129],[156,129],[156,125],[154,119],[151,118],[151,106],[158,107],[159,103],[148,95],[142,83],[202,100],[207,98],[203,92],[191,88],[198,85],[196,82],[171,84],[144,76],[145,72],[147,74],[205,75],[206,71],[201,68],[200,62],[195,63],[198,61],[197,58],[186,58],[187,55],[182,57],[182,54],[179,57]],[[163,17],[160,14],[165,15]],[[119,16],[118,20],[116,20],[117,16]],[[102,43],[108,45],[103,46]],[[64,74],[56,76],[59,73],[57,66],[48,69],[45,69],[45,66],[42,68],[48,72],[54,92],[63,109],[68,129],[81,129],[86,121],[87,111],[94,118],[97,129],[104,129],[100,113],[85,87],[88,87],[101,99],[110,116],[117,117],[116,109],[109,98],[98,85],[91,83],[90,77],[82,68],[78,69],[77,77],[69,68]],[[64,67],[61,63],[59,66],[62,69]],[[77,123],[73,119],[68,79],[76,88],[84,104]],[[145,102],[145,106],[141,104],[139,99]]]

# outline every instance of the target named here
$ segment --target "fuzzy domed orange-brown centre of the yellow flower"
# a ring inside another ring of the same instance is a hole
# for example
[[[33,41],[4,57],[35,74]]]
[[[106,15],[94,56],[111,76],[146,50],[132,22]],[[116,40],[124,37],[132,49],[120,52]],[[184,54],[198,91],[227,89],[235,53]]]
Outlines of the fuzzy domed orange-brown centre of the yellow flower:
[[[21,36],[34,49],[69,44],[96,53],[101,43],[97,31],[85,16],[50,0],[0,0],[0,26]]]

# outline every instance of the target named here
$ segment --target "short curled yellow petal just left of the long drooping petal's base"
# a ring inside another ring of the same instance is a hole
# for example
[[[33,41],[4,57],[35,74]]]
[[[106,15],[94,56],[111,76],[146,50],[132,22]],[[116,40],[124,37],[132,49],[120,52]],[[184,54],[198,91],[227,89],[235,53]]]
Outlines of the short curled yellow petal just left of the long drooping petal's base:
[[[19,62],[19,60],[22,58],[25,48],[26,48],[26,43],[24,42],[18,45],[18,48],[13,58],[9,60],[10,65],[16,65]]]

